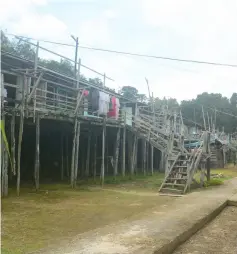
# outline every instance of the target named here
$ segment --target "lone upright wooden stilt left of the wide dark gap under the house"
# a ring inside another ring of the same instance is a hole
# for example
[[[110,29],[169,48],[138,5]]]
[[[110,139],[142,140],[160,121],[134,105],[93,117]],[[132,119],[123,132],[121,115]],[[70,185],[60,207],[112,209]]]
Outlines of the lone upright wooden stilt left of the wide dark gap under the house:
[[[35,188],[39,189],[39,168],[40,168],[40,116],[36,115],[36,142],[35,142]]]

